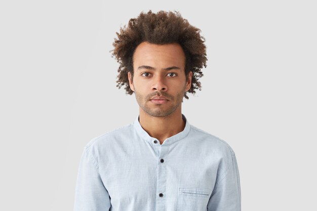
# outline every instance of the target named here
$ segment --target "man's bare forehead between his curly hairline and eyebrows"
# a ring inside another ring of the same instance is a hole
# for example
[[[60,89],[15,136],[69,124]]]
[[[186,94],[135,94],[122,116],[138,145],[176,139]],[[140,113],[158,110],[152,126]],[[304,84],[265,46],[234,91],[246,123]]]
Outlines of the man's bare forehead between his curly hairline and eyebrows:
[[[141,43],[133,55],[135,65],[180,65],[184,66],[185,54],[177,44],[157,45],[147,41]]]

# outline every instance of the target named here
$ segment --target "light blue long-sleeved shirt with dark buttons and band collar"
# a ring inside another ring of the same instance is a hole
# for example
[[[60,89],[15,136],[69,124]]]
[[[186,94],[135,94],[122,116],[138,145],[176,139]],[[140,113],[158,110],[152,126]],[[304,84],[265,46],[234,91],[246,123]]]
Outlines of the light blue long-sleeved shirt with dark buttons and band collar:
[[[186,121],[163,144],[139,122],[92,139],[78,168],[74,211],[240,211],[235,154]]]

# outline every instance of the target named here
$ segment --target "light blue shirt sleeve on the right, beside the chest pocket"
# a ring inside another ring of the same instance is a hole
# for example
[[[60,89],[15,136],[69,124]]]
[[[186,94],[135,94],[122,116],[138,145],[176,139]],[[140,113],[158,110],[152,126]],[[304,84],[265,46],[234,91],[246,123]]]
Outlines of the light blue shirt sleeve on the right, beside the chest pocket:
[[[224,177],[216,181],[207,208],[209,211],[241,211],[240,176],[235,154],[228,160]]]

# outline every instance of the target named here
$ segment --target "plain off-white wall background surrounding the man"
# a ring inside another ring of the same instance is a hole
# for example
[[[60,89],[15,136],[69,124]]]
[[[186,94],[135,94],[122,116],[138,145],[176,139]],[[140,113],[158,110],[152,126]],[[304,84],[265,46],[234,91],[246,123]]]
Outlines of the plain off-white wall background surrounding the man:
[[[83,147],[133,122],[112,42],[141,11],[177,10],[206,38],[190,124],[234,150],[242,209],[317,210],[314,1],[2,1],[0,210],[73,209]]]

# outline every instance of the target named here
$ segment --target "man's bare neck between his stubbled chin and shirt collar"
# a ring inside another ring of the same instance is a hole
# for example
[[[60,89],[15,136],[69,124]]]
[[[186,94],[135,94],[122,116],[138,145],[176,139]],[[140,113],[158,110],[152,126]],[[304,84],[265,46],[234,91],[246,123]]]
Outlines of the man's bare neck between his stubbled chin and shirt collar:
[[[139,122],[148,135],[159,140],[161,144],[165,139],[182,132],[185,128],[180,108],[163,117],[151,116],[140,108]]]

